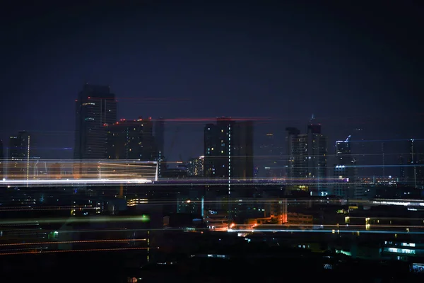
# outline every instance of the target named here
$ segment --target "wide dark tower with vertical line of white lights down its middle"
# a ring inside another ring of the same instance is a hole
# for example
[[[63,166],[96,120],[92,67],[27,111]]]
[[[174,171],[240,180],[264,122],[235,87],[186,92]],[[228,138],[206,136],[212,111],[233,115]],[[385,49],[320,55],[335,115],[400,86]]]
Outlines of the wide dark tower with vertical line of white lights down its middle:
[[[216,199],[216,202],[208,204],[205,209],[226,209],[228,219],[236,219],[244,207],[228,204],[226,200],[252,195],[252,188],[232,187],[232,184],[254,178],[253,122],[218,118],[216,124],[207,124],[204,128],[204,156],[205,177],[223,181],[220,186],[206,186],[206,197]]]

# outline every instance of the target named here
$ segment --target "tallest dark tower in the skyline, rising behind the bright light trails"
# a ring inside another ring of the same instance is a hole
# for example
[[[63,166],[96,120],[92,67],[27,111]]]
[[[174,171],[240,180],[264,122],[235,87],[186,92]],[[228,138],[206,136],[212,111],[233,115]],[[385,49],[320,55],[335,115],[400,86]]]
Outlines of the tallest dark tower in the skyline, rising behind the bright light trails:
[[[75,100],[76,127],[73,158],[99,161],[106,158],[107,131],[105,125],[117,121],[117,100],[109,86],[86,83]],[[78,162],[76,163],[76,165]],[[74,173],[86,175],[85,166],[76,166]]]

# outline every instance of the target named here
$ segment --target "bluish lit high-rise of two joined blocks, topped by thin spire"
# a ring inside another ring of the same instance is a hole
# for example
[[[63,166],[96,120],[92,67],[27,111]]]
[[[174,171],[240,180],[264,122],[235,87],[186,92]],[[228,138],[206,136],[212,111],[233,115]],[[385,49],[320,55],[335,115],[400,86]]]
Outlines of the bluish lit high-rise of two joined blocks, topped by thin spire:
[[[289,190],[305,190],[312,195],[320,194],[324,187],[327,173],[327,137],[321,133],[321,125],[310,124],[307,134],[300,134],[299,129],[288,127],[288,178]],[[310,185],[296,185],[307,180]]]

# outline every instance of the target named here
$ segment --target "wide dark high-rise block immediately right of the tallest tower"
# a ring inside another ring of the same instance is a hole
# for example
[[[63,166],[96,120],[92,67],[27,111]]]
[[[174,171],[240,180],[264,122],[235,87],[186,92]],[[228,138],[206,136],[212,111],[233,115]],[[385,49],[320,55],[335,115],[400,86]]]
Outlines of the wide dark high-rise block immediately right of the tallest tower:
[[[156,160],[151,119],[120,120],[106,127],[108,159]]]

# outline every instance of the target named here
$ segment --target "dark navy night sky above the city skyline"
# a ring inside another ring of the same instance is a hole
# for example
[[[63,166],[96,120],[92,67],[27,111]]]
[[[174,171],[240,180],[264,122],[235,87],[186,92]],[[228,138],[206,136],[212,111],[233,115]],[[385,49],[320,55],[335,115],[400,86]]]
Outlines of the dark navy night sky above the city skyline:
[[[256,144],[312,113],[331,144],[424,138],[419,1],[48,2],[0,9],[1,138],[26,129],[45,156],[71,157],[85,81],[119,118],[269,117]],[[203,124],[167,122],[171,160],[202,154]]]

